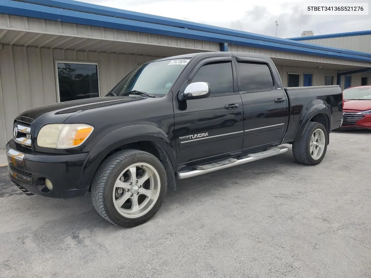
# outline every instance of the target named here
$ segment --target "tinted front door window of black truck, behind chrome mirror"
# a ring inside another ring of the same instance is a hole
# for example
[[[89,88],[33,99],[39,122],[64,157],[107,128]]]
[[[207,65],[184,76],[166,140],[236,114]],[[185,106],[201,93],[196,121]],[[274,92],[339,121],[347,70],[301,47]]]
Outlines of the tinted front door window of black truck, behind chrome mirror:
[[[211,94],[232,93],[233,73],[231,62],[216,62],[206,64],[197,71],[192,82],[208,82]]]

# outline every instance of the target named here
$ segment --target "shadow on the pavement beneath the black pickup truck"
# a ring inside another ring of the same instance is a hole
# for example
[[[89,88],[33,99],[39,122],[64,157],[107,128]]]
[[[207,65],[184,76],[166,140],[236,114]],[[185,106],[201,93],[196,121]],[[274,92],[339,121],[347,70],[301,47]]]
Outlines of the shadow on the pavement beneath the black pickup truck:
[[[288,169],[289,172],[292,172],[294,178],[295,171],[303,167],[308,166],[296,163],[292,151],[289,150],[282,155],[246,163],[207,175],[177,181],[177,190],[168,190],[160,211],[149,222],[139,227],[154,225],[154,223],[155,225],[160,225],[159,223],[162,223],[161,217],[166,216],[167,218],[168,214],[177,213],[173,211],[174,206],[176,207],[183,202],[194,202],[195,204],[199,204],[200,198],[205,196],[218,199],[225,190],[233,190],[236,185],[259,185],[262,176],[264,176],[265,179],[268,176],[274,176],[274,178],[276,178],[279,175],[285,175],[287,177]],[[95,211],[90,193],[86,196],[67,200],[49,199],[40,196],[29,197],[24,196],[15,186],[10,186],[10,182],[7,179],[3,180],[1,183],[3,185],[1,187],[2,195],[0,196],[0,202],[1,199],[7,198],[7,196],[10,195],[12,195],[11,198],[16,198],[11,206],[13,207],[12,209],[16,211],[13,221],[23,221],[19,223],[19,225],[31,225],[30,223],[33,221],[32,218],[35,217],[40,225],[38,228],[35,227],[36,229],[45,229],[45,226],[58,226],[61,230],[66,230],[66,233],[71,232],[68,227],[78,227],[79,230],[101,228],[105,229],[107,232],[115,232],[122,229],[121,227],[114,226],[108,221],[105,221]],[[27,212],[27,215],[24,215],[24,211]],[[175,215],[172,216],[175,217]],[[44,231],[43,234],[47,233]],[[52,239],[50,240],[52,241]]]

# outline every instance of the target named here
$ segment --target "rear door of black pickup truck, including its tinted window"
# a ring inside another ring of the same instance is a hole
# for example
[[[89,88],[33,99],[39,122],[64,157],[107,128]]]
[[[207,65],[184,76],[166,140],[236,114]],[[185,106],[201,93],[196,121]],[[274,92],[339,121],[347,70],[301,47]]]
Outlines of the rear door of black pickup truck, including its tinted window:
[[[274,64],[263,59],[236,57],[238,87],[243,103],[243,147],[251,153],[277,145],[284,136],[288,99]]]

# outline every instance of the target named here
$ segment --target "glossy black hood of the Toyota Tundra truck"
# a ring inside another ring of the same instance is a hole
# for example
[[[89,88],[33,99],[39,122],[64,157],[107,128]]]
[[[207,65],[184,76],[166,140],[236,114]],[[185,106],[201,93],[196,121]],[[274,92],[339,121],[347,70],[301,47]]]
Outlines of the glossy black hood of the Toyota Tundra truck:
[[[121,103],[129,103],[138,100],[146,99],[145,97],[135,96],[104,96],[104,97],[92,97],[89,99],[78,99],[66,102],[53,103],[49,105],[43,105],[27,111],[24,111],[19,116],[27,117],[29,119],[37,119],[41,115],[49,112],[55,112],[54,114],[73,114],[85,110],[96,109],[99,107],[105,107],[110,105],[117,105]]]

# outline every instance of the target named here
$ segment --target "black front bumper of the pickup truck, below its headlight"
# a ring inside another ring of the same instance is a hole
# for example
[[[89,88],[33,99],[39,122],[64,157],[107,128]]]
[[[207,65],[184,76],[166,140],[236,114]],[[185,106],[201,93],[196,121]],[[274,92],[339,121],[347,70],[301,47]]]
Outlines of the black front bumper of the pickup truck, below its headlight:
[[[10,140],[6,145],[9,179],[26,195],[68,199],[86,195],[88,188],[77,188],[88,153],[56,155],[22,151]],[[52,182],[50,191],[45,179]]]

